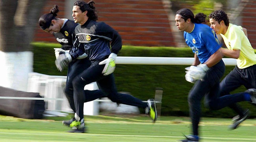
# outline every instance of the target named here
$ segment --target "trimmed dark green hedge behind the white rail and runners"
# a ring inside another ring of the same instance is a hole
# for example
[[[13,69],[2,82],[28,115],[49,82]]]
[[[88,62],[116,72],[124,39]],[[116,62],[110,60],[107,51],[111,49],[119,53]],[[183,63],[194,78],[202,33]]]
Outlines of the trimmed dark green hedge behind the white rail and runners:
[[[53,48],[61,47],[59,44],[32,43],[34,53],[34,72],[46,75],[66,75],[67,70],[60,73],[54,64],[55,55]],[[193,57],[188,47],[134,47],[123,46],[118,56],[148,56],[148,57]],[[187,94],[193,84],[184,78],[185,67],[182,65],[116,65],[115,80],[118,91],[130,92],[141,100],[154,97],[156,87],[163,88],[161,115],[188,116]],[[234,66],[226,66],[229,73]],[[245,91],[240,87],[233,93]],[[249,108],[251,117],[256,116],[256,109],[248,102],[241,102],[244,108]],[[234,117],[230,108],[210,111],[204,107],[202,100],[202,115],[204,117]],[[142,111],[143,112],[143,111]]]

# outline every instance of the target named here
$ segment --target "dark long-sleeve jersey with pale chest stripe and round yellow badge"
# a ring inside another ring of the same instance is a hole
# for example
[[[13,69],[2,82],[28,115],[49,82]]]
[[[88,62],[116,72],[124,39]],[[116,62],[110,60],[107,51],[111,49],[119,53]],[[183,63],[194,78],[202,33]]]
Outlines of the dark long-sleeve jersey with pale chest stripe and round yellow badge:
[[[74,37],[74,46],[69,52],[73,59],[86,53],[89,60],[104,60],[122,48],[119,33],[104,22],[88,19],[76,27]]]

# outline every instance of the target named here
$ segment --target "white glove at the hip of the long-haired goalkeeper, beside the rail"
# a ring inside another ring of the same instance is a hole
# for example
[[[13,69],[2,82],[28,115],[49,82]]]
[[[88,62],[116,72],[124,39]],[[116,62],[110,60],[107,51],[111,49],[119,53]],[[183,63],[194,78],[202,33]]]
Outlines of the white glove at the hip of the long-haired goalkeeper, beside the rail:
[[[115,71],[115,58],[117,58],[117,55],[115,53],[111,53],[107,59],[99,62],[99,65],[105,64],[105,67],[102,71],[103,75],[109,75]]]

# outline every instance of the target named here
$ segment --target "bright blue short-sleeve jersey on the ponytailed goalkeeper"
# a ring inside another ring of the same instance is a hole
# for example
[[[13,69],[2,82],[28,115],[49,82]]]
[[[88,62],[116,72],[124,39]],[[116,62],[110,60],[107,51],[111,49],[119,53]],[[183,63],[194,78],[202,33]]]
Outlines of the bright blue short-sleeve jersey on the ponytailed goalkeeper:
[[[191,33],[184,31],[184,38],[202,64],[221,47],[216,33],[206,24],[195,23]]]

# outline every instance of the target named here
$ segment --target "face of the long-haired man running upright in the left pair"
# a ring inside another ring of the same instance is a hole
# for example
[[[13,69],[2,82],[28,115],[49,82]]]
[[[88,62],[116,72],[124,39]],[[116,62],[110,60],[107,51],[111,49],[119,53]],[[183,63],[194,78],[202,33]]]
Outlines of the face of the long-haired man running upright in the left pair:
[[[82,13],[79,6],[77,6],[77,5],[73,6],[72,12],[73,12],[72,16],[73,16],[75,23],[79,23],[79,24],[83,25],[87,21],[87,19],[85,19],[85,17],[87,17],[87,16],[85,16],[87,11]]]

